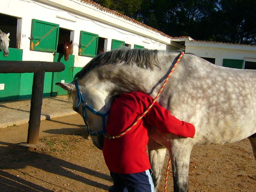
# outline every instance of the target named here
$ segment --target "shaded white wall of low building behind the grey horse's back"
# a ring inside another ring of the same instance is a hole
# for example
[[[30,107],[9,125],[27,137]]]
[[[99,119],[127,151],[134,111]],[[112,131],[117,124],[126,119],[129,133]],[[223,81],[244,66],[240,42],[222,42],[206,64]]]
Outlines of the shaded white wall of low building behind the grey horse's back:
[[[222,66],[223,59],[256,62],[256,46],[196,41],[186,41],[185,46],[186,53],[215,58],[215,64],[219,66]]]

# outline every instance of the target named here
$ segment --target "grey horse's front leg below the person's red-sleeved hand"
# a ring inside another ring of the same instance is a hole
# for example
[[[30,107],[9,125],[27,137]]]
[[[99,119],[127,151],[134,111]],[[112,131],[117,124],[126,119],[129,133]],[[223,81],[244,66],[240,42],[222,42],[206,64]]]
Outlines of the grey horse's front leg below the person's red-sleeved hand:
[[[180,140],[170,140],[169,152],[172,160],[174,192],[188,192],[188,168],[192,144]]]

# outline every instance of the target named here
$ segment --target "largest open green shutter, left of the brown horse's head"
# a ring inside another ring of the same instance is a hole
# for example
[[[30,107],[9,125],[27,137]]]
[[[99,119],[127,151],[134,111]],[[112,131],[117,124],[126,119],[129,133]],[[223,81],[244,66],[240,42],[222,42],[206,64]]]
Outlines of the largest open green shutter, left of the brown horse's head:
[[[30,50],[56,52],[59,25],[32,19]]]

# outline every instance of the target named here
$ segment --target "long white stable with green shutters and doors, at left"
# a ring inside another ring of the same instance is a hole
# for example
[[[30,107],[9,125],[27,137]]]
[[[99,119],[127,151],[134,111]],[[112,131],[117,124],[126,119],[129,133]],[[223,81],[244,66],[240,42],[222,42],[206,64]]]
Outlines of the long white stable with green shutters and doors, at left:
[[[56,82],[72,82],[98,50],[120,47],[169,50],[170,36],[91,0],[7,0],[0,30],[10,32],[10,54],[0,60],[63,62],[63,72],[46,72],[44,96],[67,94]],[[72,40],[68,61],[58,44]],[[1,74],[0,101],[30,98],[32,73]]]

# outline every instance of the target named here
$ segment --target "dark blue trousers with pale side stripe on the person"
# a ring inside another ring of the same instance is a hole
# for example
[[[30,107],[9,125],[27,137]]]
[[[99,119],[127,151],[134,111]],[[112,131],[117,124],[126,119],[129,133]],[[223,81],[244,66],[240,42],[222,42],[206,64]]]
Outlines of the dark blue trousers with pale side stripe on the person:
[[[152,170],[139,173],[118,174],[110,172],[114,186],[110,192],[154,192],[154,184],[151,177]]]

